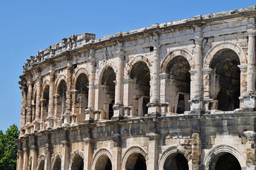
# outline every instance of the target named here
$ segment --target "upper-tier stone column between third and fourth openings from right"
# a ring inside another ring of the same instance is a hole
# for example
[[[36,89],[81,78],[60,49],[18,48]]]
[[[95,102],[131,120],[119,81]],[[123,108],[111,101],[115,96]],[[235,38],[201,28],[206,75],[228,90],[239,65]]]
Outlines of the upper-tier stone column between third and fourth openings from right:
[[[117,73],[115,86],[115,105],[113,106],[114,115],[112,120],[120,120],[124,118],[124,104],[123,104],[123,77],[124,77],[124,51],[123,44],[118,43],[117,55]]]

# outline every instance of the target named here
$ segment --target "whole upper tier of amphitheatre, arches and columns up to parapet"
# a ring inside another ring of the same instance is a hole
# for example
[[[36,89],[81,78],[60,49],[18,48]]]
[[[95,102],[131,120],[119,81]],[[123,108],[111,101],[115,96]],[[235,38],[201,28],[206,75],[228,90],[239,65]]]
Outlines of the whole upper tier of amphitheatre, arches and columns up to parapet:
[[[256,6],[63,38],[20,76],[20,136],[141,117],[255,110]]]

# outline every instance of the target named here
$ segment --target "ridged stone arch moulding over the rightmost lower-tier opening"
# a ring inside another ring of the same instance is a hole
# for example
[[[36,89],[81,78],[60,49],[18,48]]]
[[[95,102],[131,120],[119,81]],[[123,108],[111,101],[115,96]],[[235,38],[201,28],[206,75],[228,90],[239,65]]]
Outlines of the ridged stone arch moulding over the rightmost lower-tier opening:
[[[239,152],[236,148],[233,146],[228,146],[228,145],[218,145],[212,148],[204,157],[203,161],[203,169],[209,170],[209,165],[212,160],[216,159],[216,155],[219,153],[231,153],[236,159],[238,160],[241,169],[246,169],[246,160],[243,156],[243,153]]]

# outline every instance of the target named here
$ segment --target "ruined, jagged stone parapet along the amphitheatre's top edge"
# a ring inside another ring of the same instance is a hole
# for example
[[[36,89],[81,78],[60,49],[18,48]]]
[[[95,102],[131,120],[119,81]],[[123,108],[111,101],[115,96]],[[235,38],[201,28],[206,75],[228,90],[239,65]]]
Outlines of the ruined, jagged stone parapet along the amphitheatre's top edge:
[[[214,22],[216,20],[250,16],[253,14],[256,14],[255,5],[238,10],[223,11],[218,13],[211,13],[208,15],[196,15],[195,17],[188,19],[166,22],[163,24],[153,24],[150,27],[143,27],[141,29],[135,29],[132,31],[117,32],[116,34],[104,36],[99,39],[95,39],[95,34],[84,32],[82,34],[72,35],[69,38],[63,38],[60,43],[49,46],[49,48],[46,48],[45,50],[38,51],[36,56],[30,56],[30,59],[27,59],[24,63],[24,71],[31,69],[31,67],[39,64],[40,62],[49,60],[53,57],[58,57],[69,51],[75,51],[82,48],[90,48],[90,46],[97,46],[111,41],[116,41],[118,39],[131,38],[133,36],[147,34],[154,31],[172,30],[188,27],[189,25],[202,25],[206,24],[207,22]]]

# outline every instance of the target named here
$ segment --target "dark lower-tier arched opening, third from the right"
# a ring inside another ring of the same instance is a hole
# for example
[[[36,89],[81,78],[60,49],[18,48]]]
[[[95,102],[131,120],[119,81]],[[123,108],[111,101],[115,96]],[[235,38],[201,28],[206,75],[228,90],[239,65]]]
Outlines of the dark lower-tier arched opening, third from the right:
[[[145,157],[140,153],[132,153],[125,164],[125,170],[147,170]]]

